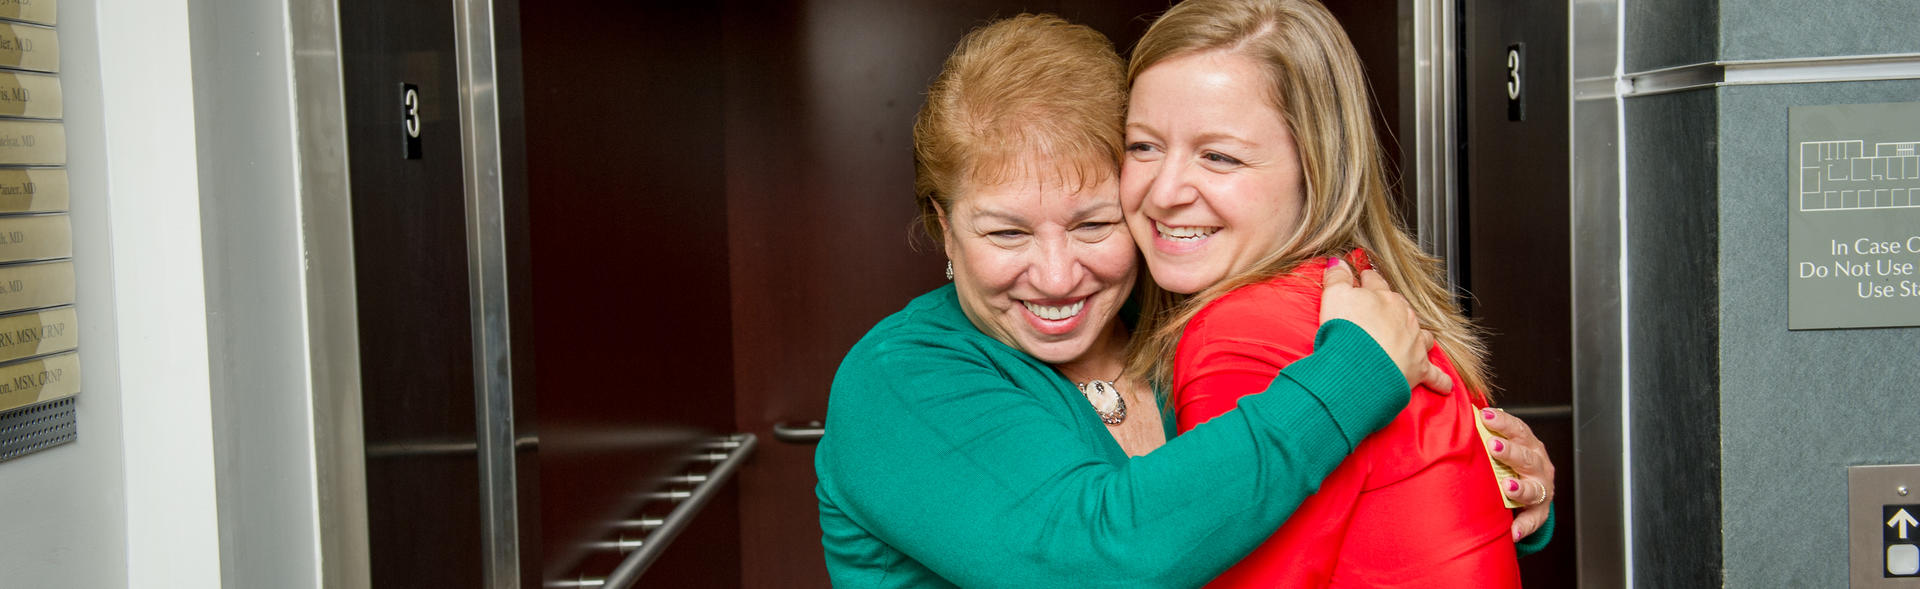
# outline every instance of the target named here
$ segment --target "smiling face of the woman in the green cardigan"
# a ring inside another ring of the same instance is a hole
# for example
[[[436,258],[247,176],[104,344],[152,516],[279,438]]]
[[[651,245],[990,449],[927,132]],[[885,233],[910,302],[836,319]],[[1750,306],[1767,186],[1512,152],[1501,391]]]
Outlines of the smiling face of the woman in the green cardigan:
[[[1073,188],[1031,175],[968,186],[941,219],[968,318],[1048,365],[1123,347],[1114,317],[1135,280],[1117,182]]]

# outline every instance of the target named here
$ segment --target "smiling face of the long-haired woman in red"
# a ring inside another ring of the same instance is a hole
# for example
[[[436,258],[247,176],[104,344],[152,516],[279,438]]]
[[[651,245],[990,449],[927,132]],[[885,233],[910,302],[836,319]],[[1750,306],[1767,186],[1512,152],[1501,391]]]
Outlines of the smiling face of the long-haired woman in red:
[[[1306,178],[1269,84],[1258,61],[1217,50],[1135,79],[1119,194],[1160,288],[1200,292],[1298,230]]]

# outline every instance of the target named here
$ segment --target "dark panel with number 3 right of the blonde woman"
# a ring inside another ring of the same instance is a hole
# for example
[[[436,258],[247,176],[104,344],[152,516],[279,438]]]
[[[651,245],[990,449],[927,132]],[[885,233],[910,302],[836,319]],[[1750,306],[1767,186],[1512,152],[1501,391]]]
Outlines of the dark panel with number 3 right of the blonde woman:
[[[1569,2],[1453,0],[1459,106],[1453,278],[1486,328],[1496,401],[1557,468],[1555,530],[1528,585],[1576,577]],[[1448,4],[1453,4],[1448,2]]]

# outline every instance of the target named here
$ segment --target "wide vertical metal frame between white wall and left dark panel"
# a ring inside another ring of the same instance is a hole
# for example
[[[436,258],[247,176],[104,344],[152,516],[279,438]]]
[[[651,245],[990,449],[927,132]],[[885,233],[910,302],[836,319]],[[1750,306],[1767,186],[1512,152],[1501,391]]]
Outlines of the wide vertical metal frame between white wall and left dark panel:
[[[346,77],[336,0],[286,4],[294,177],[305,261],[307,380],[313,391],[317,587],[371,587],[359,303],[348,169]]]

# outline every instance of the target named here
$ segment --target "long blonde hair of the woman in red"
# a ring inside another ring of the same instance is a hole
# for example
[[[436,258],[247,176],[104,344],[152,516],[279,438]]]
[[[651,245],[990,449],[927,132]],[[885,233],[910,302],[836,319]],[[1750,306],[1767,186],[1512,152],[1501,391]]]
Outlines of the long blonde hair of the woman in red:
[[[1486,397],[1486,347],[1478,330],[1453,307],[1438,259],[1400,228],[1390,205],[1371,90],[1340,23],[1313,0],[1181,2],[1140,36],[1127,82],[1154,63],[1202,52],[1229,52],[1261,65],[1271,106],[1298,144],[1306,203],[1286,246],[1244,272],[1192,295],[1144,280],[1144,315],[1129,351],[1129,374],[1167,389],[1181,332],[1208,303],[1308,259],[1365,247],[1375,269],[1413,305],[1421,326],[1436,334],[1463,384]]]

